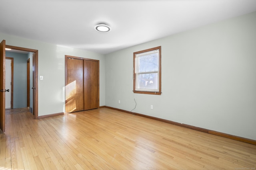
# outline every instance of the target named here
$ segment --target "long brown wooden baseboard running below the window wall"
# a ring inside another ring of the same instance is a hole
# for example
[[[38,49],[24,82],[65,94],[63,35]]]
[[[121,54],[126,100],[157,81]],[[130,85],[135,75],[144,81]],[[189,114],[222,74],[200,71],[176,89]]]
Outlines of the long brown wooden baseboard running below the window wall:
[[[201,128],[201,127],[186,125],[186,124],[183,124],[183,123],[178,123],[178,122],[175,122],[175,121],[161,119],[161,118],[158,118],[158,117],[143,115],[143,114],[140,114],[140,113],[134,113],[134,112],[131,112],[131,111],[118,109],[118,108],[115,108],[115,107],[100,106],[100,108],[102,108],[102,107],[122,111],[122,112],[133,114],[133,115],[138,115],[138,116],[141,116],[141,117],[146,117],[148,119],[153,119],[153,120],[156,120],[156,121],[162,121],[164,123],[169,123],[169,124],[172,124],[172,125],[185,127],[185,128],[188,128],[188,129],[193,129],[193,130],[196,130],[196,131],[201,131],[201,132],[204,132],[204,133],[209,133],[209,134],[212,134],[212,135],[217,135],[217,136],[228,138],[228,139],[233,139],[235,141],[240,141],[240,142],[250,143],[252,145],[256,145],[256,140],[253,140],[253,139],[248,139],[248,138],[239,137],[239,136],[235,136],[235,135],[230,135],[230,134],[226,134],[226,133],[222,133],[222,132],[212,131],[212,130],[209,130],[209,129],[204,129],[204,128]]]

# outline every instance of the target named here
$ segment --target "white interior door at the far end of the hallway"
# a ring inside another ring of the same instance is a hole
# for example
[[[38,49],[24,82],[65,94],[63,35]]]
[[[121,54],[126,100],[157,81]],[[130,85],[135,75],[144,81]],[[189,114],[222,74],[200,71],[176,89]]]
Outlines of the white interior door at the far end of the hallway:
[[[9,92],[5,92],[5,108],[10,109],[11,108],[11,89],[12,89],[12,60],[6,59],[5,60],[5,89]]]

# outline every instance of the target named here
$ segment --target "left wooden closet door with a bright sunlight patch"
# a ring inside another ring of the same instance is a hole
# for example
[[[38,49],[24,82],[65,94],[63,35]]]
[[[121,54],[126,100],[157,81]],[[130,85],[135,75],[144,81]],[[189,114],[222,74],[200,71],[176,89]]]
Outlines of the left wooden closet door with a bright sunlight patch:
[[[66,58],[66,112],[84,110],[84,62]]]

